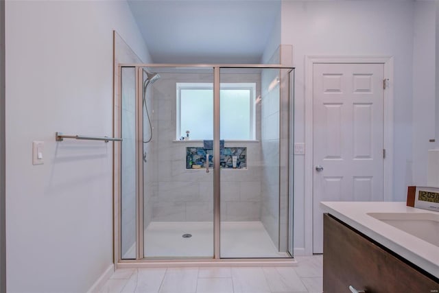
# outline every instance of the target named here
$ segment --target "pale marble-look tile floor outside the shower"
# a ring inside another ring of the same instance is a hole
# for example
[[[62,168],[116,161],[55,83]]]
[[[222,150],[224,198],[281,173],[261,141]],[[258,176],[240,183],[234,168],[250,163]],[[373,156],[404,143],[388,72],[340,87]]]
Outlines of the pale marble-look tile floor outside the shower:
[[[119,269],[99,292],[322,292],[322,255],[296,257],[295,267]]]

